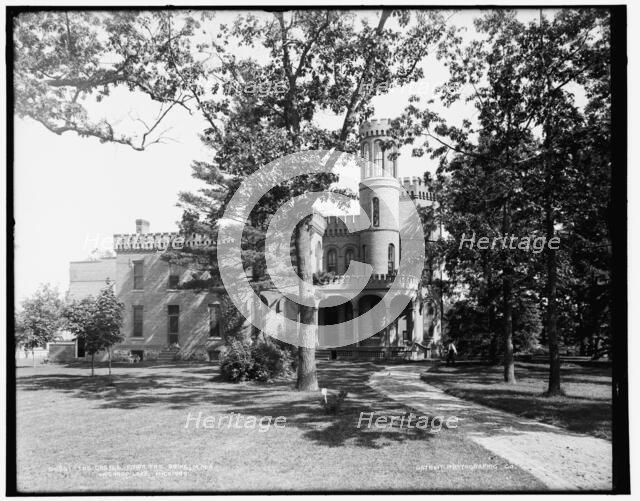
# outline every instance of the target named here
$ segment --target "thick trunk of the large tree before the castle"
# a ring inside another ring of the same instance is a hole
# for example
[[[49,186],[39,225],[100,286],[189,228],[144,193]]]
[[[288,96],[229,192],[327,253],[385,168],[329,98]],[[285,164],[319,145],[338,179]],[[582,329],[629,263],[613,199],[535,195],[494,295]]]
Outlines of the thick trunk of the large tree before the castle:
[[[300,296],[305,299],[313,297],[313,268],[311,263],[310,217],[306,217],[296,226],[296,261],[301,279]],[[316,348],[318,334],[318,309],[314,306],[299,305],[299,336],[301,346],[298,348],[298,377],[296,388],[300,391],[317,391]],[[307,346],[303,346],[302,343]]]

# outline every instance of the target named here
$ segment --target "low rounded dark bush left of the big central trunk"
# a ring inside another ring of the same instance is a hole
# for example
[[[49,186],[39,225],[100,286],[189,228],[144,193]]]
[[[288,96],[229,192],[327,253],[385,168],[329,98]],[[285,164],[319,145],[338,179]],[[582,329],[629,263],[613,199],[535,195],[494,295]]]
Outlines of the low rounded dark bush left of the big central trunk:
[[[269,381],[291,370],[291,355],[274,343],[249,344],[237,339],[228,343],[220,352],[220,372],[229,381]]]

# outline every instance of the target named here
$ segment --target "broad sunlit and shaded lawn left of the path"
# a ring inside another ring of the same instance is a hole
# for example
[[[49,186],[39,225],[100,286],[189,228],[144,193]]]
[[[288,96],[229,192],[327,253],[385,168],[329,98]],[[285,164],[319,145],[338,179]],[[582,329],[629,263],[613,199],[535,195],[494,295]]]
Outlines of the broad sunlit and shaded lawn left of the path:
[[[221,381],[213,364],[118,367],[115,387],[85,367],[17,371],[22,492],[542,490],[459,429],[358,428],[360,412],[408,409],[366,385],[369,363],[320,363],[349,392],[338,415],[318,394]],[[106,369],[98,369],[104,374]],[[185,428],[188,416],[286,418],[284,427]],[[474,467],[474,465],[476,465]],[[482,465],[482,466],[477,466]]]

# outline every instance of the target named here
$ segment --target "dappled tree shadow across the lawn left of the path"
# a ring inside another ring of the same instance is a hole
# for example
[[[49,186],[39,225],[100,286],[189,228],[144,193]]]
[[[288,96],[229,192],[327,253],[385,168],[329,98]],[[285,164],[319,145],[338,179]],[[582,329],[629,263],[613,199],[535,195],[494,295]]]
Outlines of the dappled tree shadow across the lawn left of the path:
[[[428,430],[400,428],[397,420],[394,426],[367,427],[368,414],[358,426],[360,413],[375,413],[374,420],[379,416],[408,415],[406,407],[380,396],[366,384],[377,369],[367,362],[318,363],[320,387],[349,393],[337,414],[324,411],[319,392],[295,391],[291,380],[233,384],[221,381],[218,367],[211,364],[119,368],[114,374],[114,386],[108,385],[107,376],[92,378],[88,373],[78,374],[77,369],[59,367],[49,374],[18,374],[17,385],[18,391],[51,390],[95,401],[102,409],[149,407],[154,413],[184,409],[202,411],[204,416],[236,413],[258,419],[284,416],[287,427],[298,428],[309,441],[328,447],[351,444],[381,449],[393,442],[433,438]],[[445,432],[444,428],[440,431]]]

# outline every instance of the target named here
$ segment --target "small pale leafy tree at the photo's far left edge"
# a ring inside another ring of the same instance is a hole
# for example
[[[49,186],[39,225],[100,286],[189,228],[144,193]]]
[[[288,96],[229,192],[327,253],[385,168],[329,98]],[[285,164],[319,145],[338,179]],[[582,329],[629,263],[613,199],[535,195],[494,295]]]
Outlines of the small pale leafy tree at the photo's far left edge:
[[[16,344],[31,351],[35,367],[35,349],[55,341],[61,327],[60,314],[63,303],[60,293],[49,284],[44,284],[22,302],[16,315]]]

